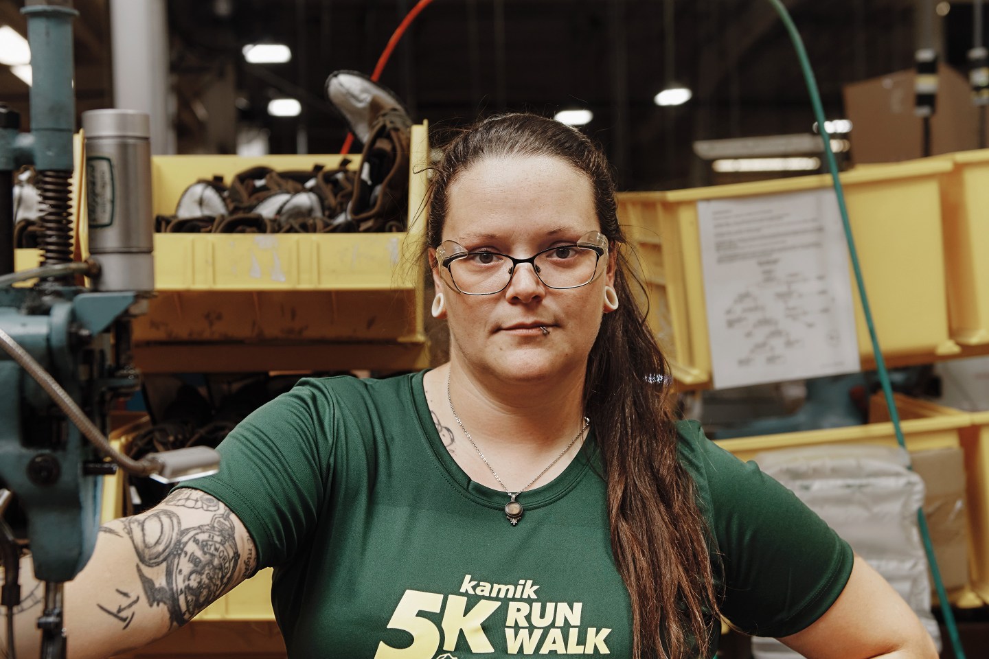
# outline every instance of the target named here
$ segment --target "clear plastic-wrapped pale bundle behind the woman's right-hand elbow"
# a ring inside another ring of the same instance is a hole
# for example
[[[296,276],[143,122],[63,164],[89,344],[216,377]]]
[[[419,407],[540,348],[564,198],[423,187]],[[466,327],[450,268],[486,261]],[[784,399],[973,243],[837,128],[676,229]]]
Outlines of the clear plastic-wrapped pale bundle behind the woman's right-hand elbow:
[[[876,569],[921,618],[940,646],[931,614],[927,559],[917,528],[924,481],[906,452],[881,446],[820,446],[759,453],[765,473],[791,489]],[[754,638],[756,659],[801,655]]]

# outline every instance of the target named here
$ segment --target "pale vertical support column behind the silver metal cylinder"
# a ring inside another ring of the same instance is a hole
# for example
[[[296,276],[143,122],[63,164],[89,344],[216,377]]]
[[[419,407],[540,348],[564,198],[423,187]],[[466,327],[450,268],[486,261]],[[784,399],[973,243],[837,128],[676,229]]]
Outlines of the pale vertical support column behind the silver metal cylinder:
[[[151,153],[175,153],[166,0],[110,0],[114,106],[151,117]]]

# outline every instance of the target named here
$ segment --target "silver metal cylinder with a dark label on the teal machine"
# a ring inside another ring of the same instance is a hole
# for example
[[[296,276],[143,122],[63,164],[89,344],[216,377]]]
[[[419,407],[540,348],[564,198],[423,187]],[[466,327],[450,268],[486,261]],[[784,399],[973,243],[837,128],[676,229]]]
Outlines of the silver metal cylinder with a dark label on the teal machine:
[[[96,290],[152,290],[150,120],[133,110],[82,113],[89,252]]]

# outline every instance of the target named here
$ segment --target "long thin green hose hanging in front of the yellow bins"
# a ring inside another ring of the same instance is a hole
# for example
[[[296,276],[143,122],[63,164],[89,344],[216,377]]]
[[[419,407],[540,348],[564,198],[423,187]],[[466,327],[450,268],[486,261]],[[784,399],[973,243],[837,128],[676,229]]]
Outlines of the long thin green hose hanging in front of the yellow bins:
[[[875,326],[872,323],[872,312],[869,310],[868,297],[865,295],[865,282],[862,280],[861,267],[858,264],[858,253],[855,250],[855,241],[852,236],[852,224],[849,221],[849,209],[845,205],[845,193],[842,189],[842,181],[838,177],[838,163],[835,160],[835,153],[831,150],[831,136],[825,129],[824,107],[821,105],[821,94],[817,89],[817,81],[814,78],[814,71],[810,67],[810,60],[804,48],[800,34],[797,32],[789,12],[780,0],[769,0],[775,7],[786,32],[789,33],[793,41],[793,47],[797,51],[797,58],[800,60],[800,68],[803,70],[804,80],[807,83],[807,90],[810,92],[811,104],[814,106],[814,117],[817,119],[818,130],[821,139],[824,141],[824,155],[828,163],[828,170],[831,172],[831,180],[835,187],[835,195],[838,197],[838,208],[842,213],[842,224],[845,226],[845,238],[849,245],[849,256],[852,259],[852,268],[855,274],[855,284],[858,286],[858,295],[862,302],[862,312],[865,315],[865,323],[868,325],[869,339],[872,341],[872,353],[875,356],[876,371],[879,372],[879,381],[882,383],[882,393],[886,398],[886,407],[889,409],[889,418],[893,422],[893,429],[896,432],[896,441],[904,450],[907,443],[903,439],[903,429],[900,428],[900,415],[896,411],[896,404],[893,402],[893,387],[889,382],[889,372],[886,371],[886,363],[882,358],[882,351],[879,350],[879,339],[875,334]],[[931,566],[931,574],[934,576],[934,583],[938,590],[938,599],[941,602],[941,610],[944,615],[944,626],[947,627],[947,635],[951,639],[951,647],[954,650],[955,659],[965,659],[965,652],[961,647],[961,640],[958,638],[958,627],[954,623],[954,615],[951,612],[951,603],[948,602],[947,593],[944,591],[944,581],[941,578],[941,570],[938,569],[938,559],[934,553],[934,544],[931,542],[931,532],[928,530],[927,518],[924,516],[924,509],[917,511],[917,522],[920,526],[921,537],[924,538],[924,550],[927,553],[928,564]]]

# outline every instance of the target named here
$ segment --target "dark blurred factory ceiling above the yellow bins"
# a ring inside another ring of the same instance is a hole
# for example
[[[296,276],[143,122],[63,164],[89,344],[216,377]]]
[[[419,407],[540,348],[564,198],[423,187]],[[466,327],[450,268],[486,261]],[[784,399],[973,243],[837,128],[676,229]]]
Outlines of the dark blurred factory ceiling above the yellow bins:
[[[338,151],[346,126],[324,100],[326,76],[337,69],[370,73],[414,4],[169,0],[179,150],[230,152],[237,130],[254,127],[267,131],[273,152],[300,145],[313,153]],[[433,126],[503,110],[552,115],[589,109],[593,120],[584,130],[605,146],[624,189],[697,183],[695,139],[810,130],[800,67],[769,2],[671,4],[672,22],[663,0],[435,0],[406,33],[382,82],[405,99],[414,120]],[[783,4],[806,41],[825,110],[838,118],[844,85],[913,66],[918,7],[937,3]],[[0,0],[0,23],[23,31],[21,5]],[[949,11],[931,17],[931,34],[944,43],[947,61],[963,67],[972,6],[943,5]],[[76,0],[75,7],[78,108],[109,107],[108,0]],[[246,63],[242,46],[259,41],[287,44],[292,59]],[[0,67],[0,100],[26,110],[27,87],[5,69]],[[671,77],[693,98],[679,107],[657,107],[653,97]],[[267,101],[285,96],[302,102],[302,115],[269,117]],[[228,112],[216,110],[218,99]]]

